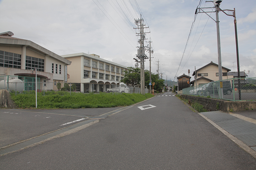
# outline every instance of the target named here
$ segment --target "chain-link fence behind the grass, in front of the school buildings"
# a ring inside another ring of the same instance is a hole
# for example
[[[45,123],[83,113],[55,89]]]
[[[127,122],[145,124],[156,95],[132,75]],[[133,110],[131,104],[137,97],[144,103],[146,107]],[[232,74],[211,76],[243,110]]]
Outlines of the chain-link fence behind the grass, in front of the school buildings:
[[[31,77],[19,77],[19,76],[0,76],[0,89],[6,89],[9,92],[14,92],[16,95],[25,93],[28,91],[36,91],[43,95],[52,94],[48,91],[58,91],[58,94],[63,92],[63,95],[70,94],[71,92],[82,93],[129,93],[139,94],[139,87],[127,86],[126,84],[101,84],[101,83],[63,83],[63,82],[47,82],[40,79]],[[69,93],[67,93],[69,92]],[[148,89],[145,89],[145,93],[148,93]]]

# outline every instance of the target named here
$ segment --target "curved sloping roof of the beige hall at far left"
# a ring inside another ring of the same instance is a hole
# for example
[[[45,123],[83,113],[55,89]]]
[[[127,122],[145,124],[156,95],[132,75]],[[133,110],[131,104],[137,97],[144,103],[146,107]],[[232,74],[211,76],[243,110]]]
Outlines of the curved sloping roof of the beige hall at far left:
[[[55,54],[52,51],[49,51],[49,50],[45,49],[44,47],[42,47],[42,46],[40,46],[40,45],[30,41],[30,40],[25,40],[25,39],[12,37],[11,34],[9,35],[8,33],[7,34],[0,33],[0,45],[27,46],[28,49],[37,50],[37,51],[41,52],[42,54],[44,54],[46,56],[49,55],[49,56],[55,58],[56,60],[62,61],[64,63],[68,64],[68,65],[71,64],[71,61]]]

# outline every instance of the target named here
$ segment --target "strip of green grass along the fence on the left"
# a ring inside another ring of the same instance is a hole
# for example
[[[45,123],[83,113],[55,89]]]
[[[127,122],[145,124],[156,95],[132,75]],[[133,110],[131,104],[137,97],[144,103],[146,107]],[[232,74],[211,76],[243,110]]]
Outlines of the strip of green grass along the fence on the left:
[[[55,108],[103,108],[129,106],[143,100],[153,97],[151,94],[120,94],[120,93],[100,93],[83,94],[72,92],[48,91],[37,94],[37,108],[55,109]],[[11,93],[11,99],[18,108],[36,108],[35,92],[26,92],[26,94]]]

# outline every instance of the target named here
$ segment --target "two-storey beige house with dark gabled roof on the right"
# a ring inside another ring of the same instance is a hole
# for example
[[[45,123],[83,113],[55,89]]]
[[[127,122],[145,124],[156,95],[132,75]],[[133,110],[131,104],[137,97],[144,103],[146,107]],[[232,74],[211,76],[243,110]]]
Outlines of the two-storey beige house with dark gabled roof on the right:
[[[230,69],[222,67],[223,80],[233,78],[232,75],[228,75],[228,72],[230,72]],[[212,81],[218,81],[219,80],[218,64],[215,64],[211,61],[209,64],[206,64],[205,66],[194,71],[192,75],[195,76],[195,79],[190,82],[192,86],[206,84]]]

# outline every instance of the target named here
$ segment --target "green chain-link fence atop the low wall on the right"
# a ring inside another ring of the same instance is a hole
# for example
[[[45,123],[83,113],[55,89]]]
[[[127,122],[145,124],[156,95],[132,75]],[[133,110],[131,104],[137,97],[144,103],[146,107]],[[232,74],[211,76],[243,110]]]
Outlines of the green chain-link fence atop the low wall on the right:
[[[230,101],[255,101],[256,78],[233,78],[182,89],[182,94]]]

